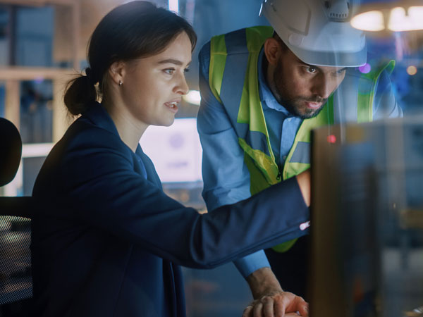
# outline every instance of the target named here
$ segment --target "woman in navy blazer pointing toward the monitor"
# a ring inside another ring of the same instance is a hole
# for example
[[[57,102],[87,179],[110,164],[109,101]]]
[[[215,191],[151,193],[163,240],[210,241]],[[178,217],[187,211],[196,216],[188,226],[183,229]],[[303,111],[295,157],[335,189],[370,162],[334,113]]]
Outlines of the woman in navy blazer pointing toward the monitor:
[[[306,204],[278,198],[301,197],[295,179],[204,215],[162,192],[138,142],[149,125],[173,123],[195,41],[183,18],[145,1],[94,30],[87,75],[65,94],[82,116],[33,190],[34,316],[185,316],[179,265],[212,268],[305,233]],[[295,217],[278,220],[291,208]]]

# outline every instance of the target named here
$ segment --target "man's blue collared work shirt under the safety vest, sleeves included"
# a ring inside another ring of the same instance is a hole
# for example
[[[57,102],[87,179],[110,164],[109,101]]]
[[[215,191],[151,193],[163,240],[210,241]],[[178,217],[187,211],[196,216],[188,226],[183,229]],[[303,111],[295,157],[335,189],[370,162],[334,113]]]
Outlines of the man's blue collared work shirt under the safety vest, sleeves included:
[[[276,101],[266,83],[262,68],[263,58],[262,49],[257,62],[259,97],[269,132],[271,149],[276,163],[279,168],[282,168],[293,146],[302,119],[293,116]],[[250,172],[245,166],[243,149],[238,144],[238,136],[235,135],[228,115],[209,87],[210,42],[200,51],[199,63],[202,104],[197,116],[197,129],[203,148],[203,197],[207,209],[213,210],[251,196]],[[396,116],[402,116],[402,111],[396,104],[388,74],[384,72],[376,85],[374,120]],[[264,251],[257,251],[234,263],[245,278],[257,269],[269,266]]]

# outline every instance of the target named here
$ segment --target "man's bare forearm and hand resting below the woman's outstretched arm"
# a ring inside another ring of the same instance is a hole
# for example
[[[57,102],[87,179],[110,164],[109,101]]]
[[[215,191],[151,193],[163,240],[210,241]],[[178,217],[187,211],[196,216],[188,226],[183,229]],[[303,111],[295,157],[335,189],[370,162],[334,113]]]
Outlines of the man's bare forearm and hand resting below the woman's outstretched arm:
[[[255,300],[245,308],[243,317],[288,317],[295,316],[297,311],[300,316],[308,316],[307,302],[283,292],[270,268],[259,268],[247,277],[247,282]]]

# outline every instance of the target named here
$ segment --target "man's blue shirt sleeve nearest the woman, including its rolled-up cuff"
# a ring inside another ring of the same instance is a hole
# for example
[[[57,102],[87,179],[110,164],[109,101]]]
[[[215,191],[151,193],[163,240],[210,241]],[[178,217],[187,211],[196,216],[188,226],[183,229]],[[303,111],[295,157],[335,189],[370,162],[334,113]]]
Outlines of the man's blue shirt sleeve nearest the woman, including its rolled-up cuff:
[[[197,130],[203,149],[203,197],[210,211],[219,206],[247,199],[250,194],[250,172],[244,163],[244,153],[223,105],[209,87],[210,44],[199,55],[201,105]],[[269,265],[264,251],[234,261],[246,278],[259,268]]]

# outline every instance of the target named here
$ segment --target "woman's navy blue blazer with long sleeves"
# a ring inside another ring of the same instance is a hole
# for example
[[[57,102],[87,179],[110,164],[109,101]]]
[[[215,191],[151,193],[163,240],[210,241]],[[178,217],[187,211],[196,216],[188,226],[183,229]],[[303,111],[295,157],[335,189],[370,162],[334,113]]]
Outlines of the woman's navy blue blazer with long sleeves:
[[[309,218],[295,179],[204,215],[183,206],[97,103],[51,150],[33,196],[37,317],[183,317],[180,265],[213,268],[300,237]]]

